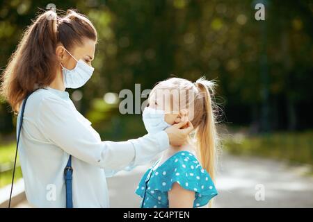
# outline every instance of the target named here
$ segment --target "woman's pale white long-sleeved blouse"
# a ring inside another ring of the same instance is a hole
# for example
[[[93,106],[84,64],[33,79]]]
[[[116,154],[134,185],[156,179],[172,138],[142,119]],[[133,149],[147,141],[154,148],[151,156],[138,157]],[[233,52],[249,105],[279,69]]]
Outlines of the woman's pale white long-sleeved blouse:
[[[46,87],[29,96],[19,160],[31,205],[65,207],[63,170],[72,155],[73,207],[109,207],[106,177],[145,164],[169,146],[164,131],[111,142],[102,141],[90,125],[67,92]]]

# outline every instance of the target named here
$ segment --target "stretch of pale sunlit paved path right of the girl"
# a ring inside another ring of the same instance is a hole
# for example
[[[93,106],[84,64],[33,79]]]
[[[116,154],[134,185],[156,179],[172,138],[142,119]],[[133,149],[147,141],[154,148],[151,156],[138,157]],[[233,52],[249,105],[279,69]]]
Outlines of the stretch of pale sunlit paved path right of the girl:
[[[313,207],[313,177],[305,172],[307,167],[275,160],[224,155],[216,207]],[[255,199],[259,187],[264,187],[265,200]]]

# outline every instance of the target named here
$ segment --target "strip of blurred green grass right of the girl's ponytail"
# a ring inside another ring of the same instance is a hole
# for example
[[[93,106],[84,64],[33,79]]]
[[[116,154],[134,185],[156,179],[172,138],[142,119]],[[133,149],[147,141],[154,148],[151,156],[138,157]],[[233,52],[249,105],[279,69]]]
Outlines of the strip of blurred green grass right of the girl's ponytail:
[[[260,155],[291,163],[313,165],[313,131],[271,133],[268,135],[232,135],[224,141],[227,151],[239,155]]]

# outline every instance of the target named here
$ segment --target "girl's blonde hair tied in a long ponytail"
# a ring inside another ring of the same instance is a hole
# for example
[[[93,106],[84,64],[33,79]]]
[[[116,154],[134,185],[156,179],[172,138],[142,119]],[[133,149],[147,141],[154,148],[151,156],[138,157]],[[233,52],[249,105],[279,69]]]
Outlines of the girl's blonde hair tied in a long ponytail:
[[[212,80],[199,78],[192,83],[184,78],[169,78],[157,83],[152,89],[151,94],[157,89],[172,89],[181,92],[188,92],[185,100],[179,99],[179,108],[191,108],[193,103],[193,118],[189,119],[193,124],[193,141],[195,142],[196,153],[202,167],[209,173],[211,179],[215,182],[218,133],[216,130],[216,118],[218,105],[214,103],[214,89],[216,83]],[[182,93],[180,93],[182,95]],[[184,104],[182,104],[182,101]],[[209,204],[211,207],[211,201]]]

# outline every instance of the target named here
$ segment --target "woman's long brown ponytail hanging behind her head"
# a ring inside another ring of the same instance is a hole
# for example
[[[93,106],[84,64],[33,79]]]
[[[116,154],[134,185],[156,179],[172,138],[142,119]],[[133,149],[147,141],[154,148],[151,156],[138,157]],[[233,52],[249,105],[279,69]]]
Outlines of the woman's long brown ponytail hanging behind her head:
[[[57,19],[52,10],[40,15],[24,32],[3,71],[1,94],[15,112],[36,84],[40,87],[54,80]]]

